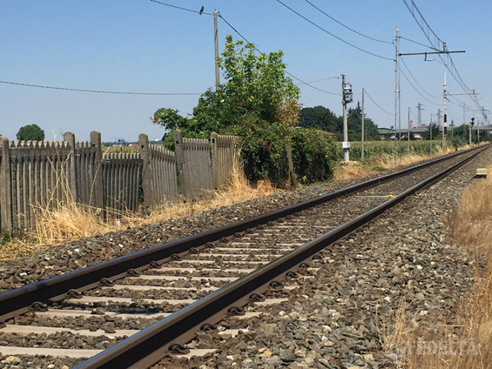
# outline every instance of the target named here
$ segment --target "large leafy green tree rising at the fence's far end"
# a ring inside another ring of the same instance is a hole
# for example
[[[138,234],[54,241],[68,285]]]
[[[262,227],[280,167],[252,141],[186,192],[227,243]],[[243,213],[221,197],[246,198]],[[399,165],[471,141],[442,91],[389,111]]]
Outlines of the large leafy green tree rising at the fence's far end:
[[[225,84],[203,93],[190,118],[162,108],[152,120],[169,131],[181,129],[185,136],[206,138],[211,131],[242,136],[250,179],[268,176],[276,182],[299,110],[299,88],[286,76],[282,57],[281,51],[257,55],[253,44],[243,46],[229,35],[219,59]]]

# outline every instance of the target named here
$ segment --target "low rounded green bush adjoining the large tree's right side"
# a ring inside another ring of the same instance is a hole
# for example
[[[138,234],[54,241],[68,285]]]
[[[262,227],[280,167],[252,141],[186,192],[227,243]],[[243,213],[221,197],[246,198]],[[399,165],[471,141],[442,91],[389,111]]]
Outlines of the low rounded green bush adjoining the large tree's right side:
[[[339,160],[336,144],[319,129],[296,129],[292,136],[292,160],[303,183],[329,180]]]

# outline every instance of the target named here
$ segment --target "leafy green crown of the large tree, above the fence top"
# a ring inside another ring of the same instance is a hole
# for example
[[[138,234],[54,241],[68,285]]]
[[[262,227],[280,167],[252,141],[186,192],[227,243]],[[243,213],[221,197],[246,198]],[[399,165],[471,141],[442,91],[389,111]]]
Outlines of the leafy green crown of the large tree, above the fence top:
[[[299,88],[286,76],[283,52],[255,54],[253,44],[243,46],[226,37],[218,59],[225,83],[207,90],[194,107],[192,117],[181,117],[177,110],[161,108],[152,120],[165,129],[181,129],[187,136],[205,137],[211,131],[241,134],[254,131],[257,124],[293,127],[298,119]]]

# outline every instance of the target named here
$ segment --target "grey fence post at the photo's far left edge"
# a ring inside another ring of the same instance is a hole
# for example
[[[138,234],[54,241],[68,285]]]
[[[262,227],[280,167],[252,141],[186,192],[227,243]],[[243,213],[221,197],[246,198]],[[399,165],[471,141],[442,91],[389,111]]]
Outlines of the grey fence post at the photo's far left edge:
[[[0,230],[11,230],[12,224],[12,195],[11,195],[11,163],[9,141],[0,136]]]

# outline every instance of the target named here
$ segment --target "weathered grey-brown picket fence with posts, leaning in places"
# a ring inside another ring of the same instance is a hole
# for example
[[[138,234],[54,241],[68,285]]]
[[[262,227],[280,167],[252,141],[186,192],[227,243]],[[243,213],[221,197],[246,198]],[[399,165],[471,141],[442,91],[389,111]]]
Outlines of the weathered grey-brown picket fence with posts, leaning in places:
[[[8,141],[0,136],[1,230],[21,232],[35,225],[42,211],[68,201],[100,209],[106,216],[144,211],[181,194],[190,199],[230,180],[238,157],[237,137],[183,138],[174,132],[176,152],[151,145],[139,136],[139,153],[102,153],[98,131],[78,142]],[[101,212],[99,210],[99,212]]]

